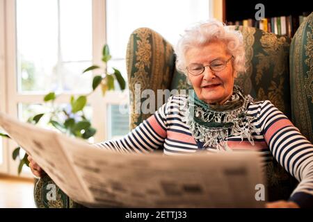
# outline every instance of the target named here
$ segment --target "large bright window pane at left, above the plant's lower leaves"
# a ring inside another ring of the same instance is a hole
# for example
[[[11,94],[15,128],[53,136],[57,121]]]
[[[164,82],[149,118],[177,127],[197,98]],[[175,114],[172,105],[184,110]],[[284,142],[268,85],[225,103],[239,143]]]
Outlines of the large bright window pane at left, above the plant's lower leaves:
[[[91,74],[81,74],[92,60],[91,3],[17,0],[19,91],[91,89]]]

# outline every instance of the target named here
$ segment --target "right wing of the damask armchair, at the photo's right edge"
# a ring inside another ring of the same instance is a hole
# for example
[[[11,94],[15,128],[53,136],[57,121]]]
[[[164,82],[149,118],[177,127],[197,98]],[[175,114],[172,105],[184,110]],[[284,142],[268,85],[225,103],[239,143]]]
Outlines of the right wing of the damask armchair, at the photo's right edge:
[[[292,121],[313,143],[313,12],[296,31],[290,48]]]

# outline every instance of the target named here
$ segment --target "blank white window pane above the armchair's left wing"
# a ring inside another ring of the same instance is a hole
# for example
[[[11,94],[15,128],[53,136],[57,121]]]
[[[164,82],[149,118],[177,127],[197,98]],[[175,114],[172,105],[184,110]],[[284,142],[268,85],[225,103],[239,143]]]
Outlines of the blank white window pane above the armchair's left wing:
[[[129,35],[139,27],[176,44],[184,29],[209,19],[209,0],[107,0],[107,37],[113,58],[125,58]]]

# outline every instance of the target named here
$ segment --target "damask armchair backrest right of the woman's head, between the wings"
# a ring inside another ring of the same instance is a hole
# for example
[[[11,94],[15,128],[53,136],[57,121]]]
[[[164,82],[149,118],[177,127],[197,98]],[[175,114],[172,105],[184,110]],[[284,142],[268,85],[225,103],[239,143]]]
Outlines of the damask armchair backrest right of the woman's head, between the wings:
[[[291,117],[289,85],[290,39],[259,28],[230,26],[241,31],[246,49],[246,72],[235,84],[256,100],[270,100]]]

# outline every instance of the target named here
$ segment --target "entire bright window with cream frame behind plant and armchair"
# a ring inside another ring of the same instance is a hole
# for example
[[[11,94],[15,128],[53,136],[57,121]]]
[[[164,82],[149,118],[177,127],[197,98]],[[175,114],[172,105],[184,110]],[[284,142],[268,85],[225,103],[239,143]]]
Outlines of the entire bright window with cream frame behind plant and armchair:
[[[101,64],[102,46],[110,46],[111,67],[127,78],[125,53],[130,33],[148,26],[175,44],[184,28],[209,18],[203,0],[0,0],[0,111],[26,119],[47,92],[59,94],[64,105],[70,94],[90,92]],[[97,74],[95,72],[95,74]],[[128,103],[127,92],[101,92],[88,98],[88,113],[97,128],[95,142],[128,132],[129,114],[117,113]],[[37,111],[36,111],[37,110]],[[11,154],[16,144],[0,139],[0,172],[17,174]],[[24,173],[24,175],[26,175]]]

